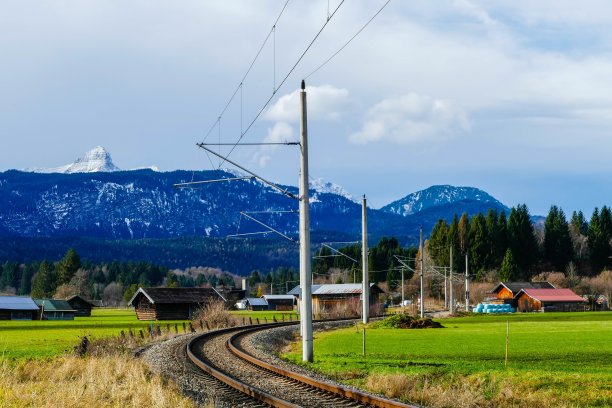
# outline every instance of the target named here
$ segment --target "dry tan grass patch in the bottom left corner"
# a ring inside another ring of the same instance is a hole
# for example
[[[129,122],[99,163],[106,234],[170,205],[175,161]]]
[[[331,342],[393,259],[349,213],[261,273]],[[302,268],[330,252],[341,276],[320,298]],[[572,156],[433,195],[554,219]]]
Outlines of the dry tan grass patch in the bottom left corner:
[[[193,407],[178,388],[126,356],[0,363],[3,407]]]

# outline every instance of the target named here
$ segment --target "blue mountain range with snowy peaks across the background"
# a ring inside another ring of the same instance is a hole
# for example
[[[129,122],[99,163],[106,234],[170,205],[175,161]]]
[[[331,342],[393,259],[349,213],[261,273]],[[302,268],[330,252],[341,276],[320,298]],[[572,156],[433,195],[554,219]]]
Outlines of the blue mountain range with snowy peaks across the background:
[[[45,238],[256,238],[264,231],[268,237],[276,235],[263,223],[297,240],[298,202],[255,179],[176,187],[236,175],[229,170],[122,171],[102,147],[54,169],[5,171],[0,173],[0,237],[44,242]],[[281,187],[297,194],[296,187]],[[361,204],[342,187],[324,180],[313,181],[310,190],[313,241],[359,240]],[[428,234],[440,218],[450,220],[455,213],[473,215],[489,208],[508,211],[477,188],[433,186],[380,209],[369,208],[368,231],[372,242],[396,236],[403,244],[414,244],[420,226]],[[11,254],[0,253],[0,259],[3,256]]]

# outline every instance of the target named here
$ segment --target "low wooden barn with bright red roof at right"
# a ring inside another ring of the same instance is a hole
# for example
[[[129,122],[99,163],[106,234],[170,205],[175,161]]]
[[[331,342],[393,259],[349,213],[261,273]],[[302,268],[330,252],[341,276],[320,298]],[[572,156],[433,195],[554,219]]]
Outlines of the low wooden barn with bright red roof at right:
[[[521,289],[515,300],[519,312],[578,312],[588,303],[571,289]]]

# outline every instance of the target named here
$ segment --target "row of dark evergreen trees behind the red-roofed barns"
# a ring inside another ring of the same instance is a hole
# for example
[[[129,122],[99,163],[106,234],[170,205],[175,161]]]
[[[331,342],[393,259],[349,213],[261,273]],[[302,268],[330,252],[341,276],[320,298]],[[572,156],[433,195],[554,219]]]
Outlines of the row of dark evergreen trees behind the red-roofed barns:
[[[449,266],[452,251],[455,270],[463,270],[467,255],[477,280],[493,270],[504,281],[568,269],[593,276],[612,265],[611,239],[612,211],[606,206],[596,208],[587,221],[581,211],[574,211],[568,220],[553,205],[543,224],[534,224],[522,204],[512,208],[508,217],[503,210],[490,209],[486,215],[455,214],[450,224],[440,219],[431,231],[427,251],[439,266]]]

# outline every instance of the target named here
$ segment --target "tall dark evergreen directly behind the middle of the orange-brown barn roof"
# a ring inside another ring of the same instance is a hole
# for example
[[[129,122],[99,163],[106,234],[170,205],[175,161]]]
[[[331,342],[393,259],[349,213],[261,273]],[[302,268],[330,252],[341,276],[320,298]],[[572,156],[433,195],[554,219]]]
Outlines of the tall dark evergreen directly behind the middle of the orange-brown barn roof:
[[[512,208],[508,217],[508,248],[520,270],[520,278],[529,280],[531,268],[538,257],[538,244],[535,238],[531,216],[525,204]]]

